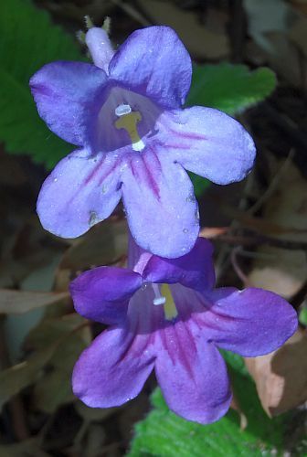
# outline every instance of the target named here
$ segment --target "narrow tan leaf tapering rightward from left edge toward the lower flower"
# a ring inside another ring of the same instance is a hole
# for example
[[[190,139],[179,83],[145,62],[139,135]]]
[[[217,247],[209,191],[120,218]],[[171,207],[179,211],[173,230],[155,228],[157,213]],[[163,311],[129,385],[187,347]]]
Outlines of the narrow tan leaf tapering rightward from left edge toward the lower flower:
[[[23,314],[69,297],[69,292],[25,292],[0,289],[0,313]]]

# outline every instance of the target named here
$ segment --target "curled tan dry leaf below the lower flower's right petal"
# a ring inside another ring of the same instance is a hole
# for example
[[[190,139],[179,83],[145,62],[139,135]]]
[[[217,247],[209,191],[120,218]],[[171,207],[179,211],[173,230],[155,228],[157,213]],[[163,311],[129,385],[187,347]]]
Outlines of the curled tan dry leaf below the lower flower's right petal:
[[[277,351],[246,358],[263,409],[270,417],[307,400],[307,334],[299,329]]]

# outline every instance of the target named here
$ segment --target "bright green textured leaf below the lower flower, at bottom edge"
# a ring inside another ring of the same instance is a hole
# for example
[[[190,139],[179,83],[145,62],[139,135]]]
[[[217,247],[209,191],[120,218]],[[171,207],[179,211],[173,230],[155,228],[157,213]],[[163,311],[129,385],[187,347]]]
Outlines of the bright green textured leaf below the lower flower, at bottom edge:
[[[206,457],[269,456],[275,449],[249,431],[240,430],[234,411],[229,411],[227,417],[218,422],[204,426],[175,416],[163,401],[160,390],[156,390],[154,410],[135,427],[130,457],[203,457],[205,449]]]

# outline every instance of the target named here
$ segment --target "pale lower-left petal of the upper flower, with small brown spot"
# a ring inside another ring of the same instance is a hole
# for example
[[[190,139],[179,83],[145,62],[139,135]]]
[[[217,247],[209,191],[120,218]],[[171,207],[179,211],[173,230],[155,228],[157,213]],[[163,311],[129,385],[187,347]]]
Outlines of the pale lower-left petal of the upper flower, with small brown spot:
[[[118,204],[119,159],[81,150],[61,160],[43,184],[37,214],[44,228],[63,238],[76,238],[108,218]]]

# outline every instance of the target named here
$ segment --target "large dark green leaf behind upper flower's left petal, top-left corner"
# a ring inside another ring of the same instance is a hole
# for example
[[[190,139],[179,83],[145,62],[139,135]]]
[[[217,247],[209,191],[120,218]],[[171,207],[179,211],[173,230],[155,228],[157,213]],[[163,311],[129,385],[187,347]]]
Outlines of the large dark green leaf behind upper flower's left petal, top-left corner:
[[[0,15],[0,141],[11,154],[29,154],[52,168],[73,149],[39,119],[28,81],[44,64],[80,60],[74,40],[28,0],[10,0]]]

